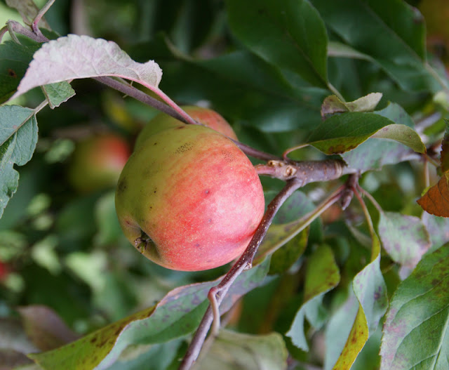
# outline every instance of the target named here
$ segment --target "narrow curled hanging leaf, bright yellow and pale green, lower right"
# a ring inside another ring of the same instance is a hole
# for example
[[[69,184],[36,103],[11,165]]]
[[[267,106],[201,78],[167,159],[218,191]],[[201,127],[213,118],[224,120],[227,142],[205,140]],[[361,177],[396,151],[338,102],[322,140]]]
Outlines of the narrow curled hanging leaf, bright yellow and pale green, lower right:
[[[387,310],[387,286],[380,271],[380,242],[375,234],[371,262],[354,277],[352,286],[359,302],[358,312],[347,342],[333,367],[335,370],[351,368]]]

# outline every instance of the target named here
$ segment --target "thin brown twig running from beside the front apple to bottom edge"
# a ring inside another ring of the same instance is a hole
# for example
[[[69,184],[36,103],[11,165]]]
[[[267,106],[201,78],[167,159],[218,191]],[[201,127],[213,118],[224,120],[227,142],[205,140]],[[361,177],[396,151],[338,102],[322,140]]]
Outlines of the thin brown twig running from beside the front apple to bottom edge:
[[[253,239],[251,239],[250,244],[248,244],[246,251],[231,267],[231,270],[229,270],[227,275],[225,275],[220,284],[210,289],[209,294],[215,296],[214,299],[216,300],[218,306],[222,303],[222,300],[225,298],[227,291],[232,286],[235,279],[241,274],[241,272],[243,272],[243,270],[246,270],[252,265],[257,248],[262,242],[265,234],[267,234],[268,227],[272,223],[274,216],[283,202],[286,201],[288,197],[295,192],[295,190],[301,187],[301,185],[302,183],[297,178],[287,181],[285,187],[283,187],[283,190],[281,190],[281,192],[279,192],[279,194],[277,194],[268,205],[267,212],[264,214],[264,217],[262,218],[259,227],[257,227]],[[196,330],[196,333],[192,338],[192,342],[187,349],[184,359],[182,359],[179,370],[190,369],[192,364],[196,361],[213,319],[213,309],[209,306],[206,314],[203,316],[203,319],[199,324],[199,328]]]

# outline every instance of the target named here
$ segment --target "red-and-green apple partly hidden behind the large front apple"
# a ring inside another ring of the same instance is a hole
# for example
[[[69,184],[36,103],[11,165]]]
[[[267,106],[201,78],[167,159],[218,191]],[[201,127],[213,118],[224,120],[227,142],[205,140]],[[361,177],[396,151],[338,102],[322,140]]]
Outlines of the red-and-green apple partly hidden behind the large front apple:
[[[232,129],[231,125],[224,119],[220,114],[214,110],[208,108],[196,107],[195,105],[182,105],[182,110],[184,110],[190,117],[195,121],[198,121],[204,126],[208,126],[213,130],[222,133],[229,138],[238,140],[236,133]],[[166,130],[168,128],[175,128],[184,125],[181,121],[169,116],[165,113],[159,113],[154,117],[144,128],[140,131],[140,134],[135,142],[136,150],[142,143],[147,140],[150,136],[158,133],[160,131]]]

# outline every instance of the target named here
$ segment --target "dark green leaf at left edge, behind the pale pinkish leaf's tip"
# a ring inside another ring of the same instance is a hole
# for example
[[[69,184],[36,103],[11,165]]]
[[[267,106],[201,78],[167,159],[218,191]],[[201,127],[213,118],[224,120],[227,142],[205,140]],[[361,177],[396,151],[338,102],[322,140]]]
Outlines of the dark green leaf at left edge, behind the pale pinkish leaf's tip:
[[[24,46],[13,41],[0,44],[0,103],[6,102],[17,90],[33,54],[40,44]]]

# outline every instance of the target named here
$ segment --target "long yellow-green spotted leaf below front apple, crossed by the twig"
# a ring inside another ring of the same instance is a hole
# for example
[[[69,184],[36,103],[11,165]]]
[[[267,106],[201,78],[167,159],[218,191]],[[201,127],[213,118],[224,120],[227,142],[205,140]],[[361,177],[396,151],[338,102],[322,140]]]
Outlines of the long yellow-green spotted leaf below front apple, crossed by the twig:
[[[243,272],[232,285],[220,312],[226,312],[243,294],[261,284],[269,263]],[[208,291],[219,280],[180,286],[157,305],[94,331],[56,350],[29,355],[43,369],[107,369],[128,345],[170,341],[192,333],[208,306]]]

